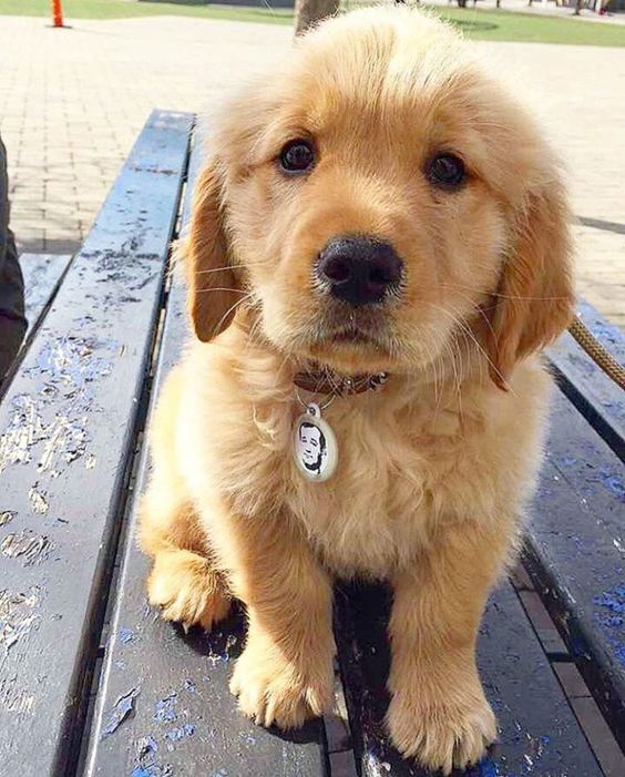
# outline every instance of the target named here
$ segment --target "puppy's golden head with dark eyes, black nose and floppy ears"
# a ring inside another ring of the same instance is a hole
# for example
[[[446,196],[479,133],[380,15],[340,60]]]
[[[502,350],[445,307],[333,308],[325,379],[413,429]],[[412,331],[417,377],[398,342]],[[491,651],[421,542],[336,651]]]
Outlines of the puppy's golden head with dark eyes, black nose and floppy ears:
[[[442,23],[321,24],[227,105],[187,241],[197,336],[253,306],[273,346],[344,372],[460,339],[502,385],[572,307],[568,211],[534,124]]]

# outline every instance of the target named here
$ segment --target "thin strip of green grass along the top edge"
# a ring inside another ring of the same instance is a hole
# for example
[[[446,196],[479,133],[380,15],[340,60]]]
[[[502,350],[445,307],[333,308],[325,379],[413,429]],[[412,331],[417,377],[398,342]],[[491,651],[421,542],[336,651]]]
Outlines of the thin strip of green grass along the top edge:
[[[505,1],[505,0],[504,0]],[[269,0],[270,2],[270,0]],[[349,4],[349,0],[347,0]],[[473,8],[433,7],[443,19],[455,24],[467,38],[570,45],[625,47],[625,25],[598,24],[573,19],[539,17]],[[201,19],[291,24],[288,9],[198,6],[178,2],[133,2],[132,0],[63,0],[63,12],[72,19],[127,19],[132,17],[176,16]],[[0,0],[0,14],[49,17],[49,0]]]

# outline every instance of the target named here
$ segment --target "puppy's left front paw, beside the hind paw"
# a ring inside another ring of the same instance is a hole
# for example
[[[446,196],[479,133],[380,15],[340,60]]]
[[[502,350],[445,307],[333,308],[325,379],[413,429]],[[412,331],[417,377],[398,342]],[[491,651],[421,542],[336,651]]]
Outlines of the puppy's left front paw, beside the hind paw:
[[[298,728],[330,707],[331,667],[317,678],[305,677],[277,651],[250,643],[235,666],[230,691],[238,696],[242,712],[255,723]]]

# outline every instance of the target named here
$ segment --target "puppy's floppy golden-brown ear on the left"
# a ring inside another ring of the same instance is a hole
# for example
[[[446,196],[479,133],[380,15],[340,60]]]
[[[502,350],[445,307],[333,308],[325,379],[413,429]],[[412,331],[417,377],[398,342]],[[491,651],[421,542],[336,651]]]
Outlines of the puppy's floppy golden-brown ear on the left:
[[[188,313],[198,339],[207,343],[228,326],[235,303],[240,299],[235,273],[228,266],[222,181],[216,160],[208,162],[195,185],[183,254]]]

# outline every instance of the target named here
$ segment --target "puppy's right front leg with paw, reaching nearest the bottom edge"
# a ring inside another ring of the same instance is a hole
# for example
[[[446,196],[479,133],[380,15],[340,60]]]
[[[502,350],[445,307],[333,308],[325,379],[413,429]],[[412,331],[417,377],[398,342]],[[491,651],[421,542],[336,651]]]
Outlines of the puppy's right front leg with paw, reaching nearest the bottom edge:
[[[510,535],[502,524],[443,526],[393,581],[387,723],[403,755],[444,774],[479,760],[496,737],[475,641]]]

